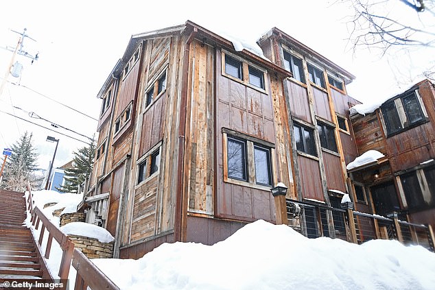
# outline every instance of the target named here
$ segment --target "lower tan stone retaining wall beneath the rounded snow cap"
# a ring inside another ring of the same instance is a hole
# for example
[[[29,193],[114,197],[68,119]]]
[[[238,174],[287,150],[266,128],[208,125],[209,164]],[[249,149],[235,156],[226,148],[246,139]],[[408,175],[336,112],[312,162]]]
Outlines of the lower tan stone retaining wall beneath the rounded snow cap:
[[[113,242],[102,243],[97,239],[69,234],[75,248],[88,258],[113,258]]]

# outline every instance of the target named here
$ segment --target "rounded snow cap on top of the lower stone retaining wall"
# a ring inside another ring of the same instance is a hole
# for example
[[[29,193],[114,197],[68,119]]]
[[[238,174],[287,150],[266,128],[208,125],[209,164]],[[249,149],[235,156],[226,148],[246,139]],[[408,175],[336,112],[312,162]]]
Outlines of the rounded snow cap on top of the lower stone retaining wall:
[[[67,235],[74,234],[76,236],[94,238],[101,243],[110,243],[115,240],[115,238],[105,228],[95,226],[91,223],[82,223],[81,221],[67,223],[60,227],[60,230]]]

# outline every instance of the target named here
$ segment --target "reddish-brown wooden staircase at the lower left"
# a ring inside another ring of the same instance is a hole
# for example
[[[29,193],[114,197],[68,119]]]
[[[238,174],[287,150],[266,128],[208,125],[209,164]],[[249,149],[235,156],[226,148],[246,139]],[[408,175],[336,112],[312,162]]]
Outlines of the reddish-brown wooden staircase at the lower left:
[[[32,232],[25,226],[23,195],[0,190],[0,283],[5,278],[51,280]]]

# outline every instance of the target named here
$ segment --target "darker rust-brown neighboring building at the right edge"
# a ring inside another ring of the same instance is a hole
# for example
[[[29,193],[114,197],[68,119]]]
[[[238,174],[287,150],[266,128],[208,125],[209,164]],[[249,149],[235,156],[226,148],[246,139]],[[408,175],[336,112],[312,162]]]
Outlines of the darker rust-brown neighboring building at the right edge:
[[[351,169],[357,209],[435,226],[435,88],[430,80],[351,116],[359,152],[386,157]]]

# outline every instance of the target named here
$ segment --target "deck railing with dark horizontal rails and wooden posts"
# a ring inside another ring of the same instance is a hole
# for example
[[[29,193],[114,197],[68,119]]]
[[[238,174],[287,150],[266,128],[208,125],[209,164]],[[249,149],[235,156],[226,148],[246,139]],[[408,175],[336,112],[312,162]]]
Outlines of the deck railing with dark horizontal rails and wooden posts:
[[[434,252],[434,232],[430,225],[400,221],[396,213],[381,217],[359,213],[350,205],[333,208],[326,204],[286,200],[288,225],[309,238],[331,237],[352,243],[373,239],[395,239],[421,245]]]

